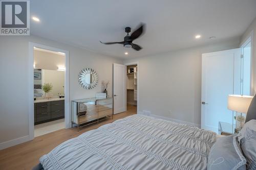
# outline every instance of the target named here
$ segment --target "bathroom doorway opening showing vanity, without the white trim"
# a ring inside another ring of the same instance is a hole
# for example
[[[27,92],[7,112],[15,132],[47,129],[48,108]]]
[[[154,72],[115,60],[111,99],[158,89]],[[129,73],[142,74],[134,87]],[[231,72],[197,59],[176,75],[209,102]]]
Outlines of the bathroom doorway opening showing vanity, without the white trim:
[[[65,129],[65,54],[34,47],[34,137]]]

